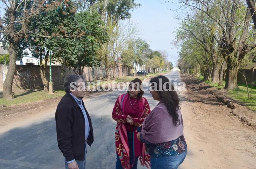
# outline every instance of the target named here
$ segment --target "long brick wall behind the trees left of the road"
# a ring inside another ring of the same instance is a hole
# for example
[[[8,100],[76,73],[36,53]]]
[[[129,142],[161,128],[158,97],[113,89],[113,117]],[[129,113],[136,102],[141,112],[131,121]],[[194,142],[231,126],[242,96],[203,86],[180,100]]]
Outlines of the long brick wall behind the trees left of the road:
[[[49,79],[49,66],[46,66],[46,79]],[[0,64],[0,90],[3,89],[3,82],[8,70],[8,65]],[[95,68],[95,80],[106,77],[105,68]],[[113,71],[110,70],[111,75]],[[122,66],[115,69],[115,76],[127,76],[130,70]],[[52,66],[52,82],[53,85],[63,85],[65,77],[75,74],[71,67]],[[83,76],[86,81],[92,81],[92,67],[85,67]],[[16,65],[16,72],[13,79],[13,88],[35,88],[42,87],[40,67],[38,65]]]

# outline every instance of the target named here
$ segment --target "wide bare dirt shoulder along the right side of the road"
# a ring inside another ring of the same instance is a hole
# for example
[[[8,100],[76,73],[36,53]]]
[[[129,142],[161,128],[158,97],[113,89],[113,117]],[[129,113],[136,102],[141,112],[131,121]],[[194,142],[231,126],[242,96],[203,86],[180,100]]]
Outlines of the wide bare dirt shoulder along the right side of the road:
[[[225,91],[189,76],[181,78],[186,83],[180,96],[188,154],[180,168],[255,169],[255,113]]]

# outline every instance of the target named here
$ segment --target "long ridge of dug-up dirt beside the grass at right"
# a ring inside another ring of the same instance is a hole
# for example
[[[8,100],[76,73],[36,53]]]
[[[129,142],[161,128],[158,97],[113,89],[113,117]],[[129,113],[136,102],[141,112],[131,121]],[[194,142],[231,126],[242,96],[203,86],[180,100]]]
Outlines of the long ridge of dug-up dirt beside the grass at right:
[[[225,89],[219,90],[188,74],[181,75],[181,78],[182,81],[186,83],[186,90],[192,101],[203,103],[210,102],[210,104],[227,106],[230,111],[223,113],[233,114],[242,123],[256,129],[256,113],[246,108],[245,104],[239,103],[229,97]]]

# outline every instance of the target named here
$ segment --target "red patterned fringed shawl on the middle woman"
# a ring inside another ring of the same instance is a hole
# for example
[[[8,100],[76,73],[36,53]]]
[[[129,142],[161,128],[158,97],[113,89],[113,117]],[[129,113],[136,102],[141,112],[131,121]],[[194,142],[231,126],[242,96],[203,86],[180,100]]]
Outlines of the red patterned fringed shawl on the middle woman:
[[[112,112],[112,118],[115,121],[117,121],[116,133],[115,133],[116,152],[119,156],[121,165],[124,169],[131,169],[132,167],[130,165],[130,148],[128,145],[127,131],[124,125],[124,123],[126,123],[126,117],[127,117],[127,114],[124,114],[124,105],[128,97],[129,97],[128,93],[122,94],[121,96],[119,96],[117,98],[117,101],[115,103],[115,106]],[[144,119],[150,113],[149,104],[145,98],[142,97],[141,100],[138,100],[138,103],[139,103],[139,114],[137,118],[133,118],[135,126],[141,125]],[[133,134],[134,134],[133,136],[134,136],[135,156],[136,154],[142,154],[139,156],[141,165],[146,166],[147,168],[150,168],[150,155],[146,153],[144,144],[140,146],[141,142],[138,141],[136,137],[137,132],[134,131]],[[139,147],[141,152],[138,152]]]

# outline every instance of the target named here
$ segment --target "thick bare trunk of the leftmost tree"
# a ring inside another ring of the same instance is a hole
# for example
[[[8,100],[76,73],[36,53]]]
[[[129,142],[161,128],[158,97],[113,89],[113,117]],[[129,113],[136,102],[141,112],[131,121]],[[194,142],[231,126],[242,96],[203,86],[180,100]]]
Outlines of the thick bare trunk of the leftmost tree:
[[[9,43],[9,64],[8,71],[3,83],[3,98],[13,99],[15,96],[12,92],[13,88],[13,78],[16,70],[16,59],[17,59],[17,45],[15,43]]]

